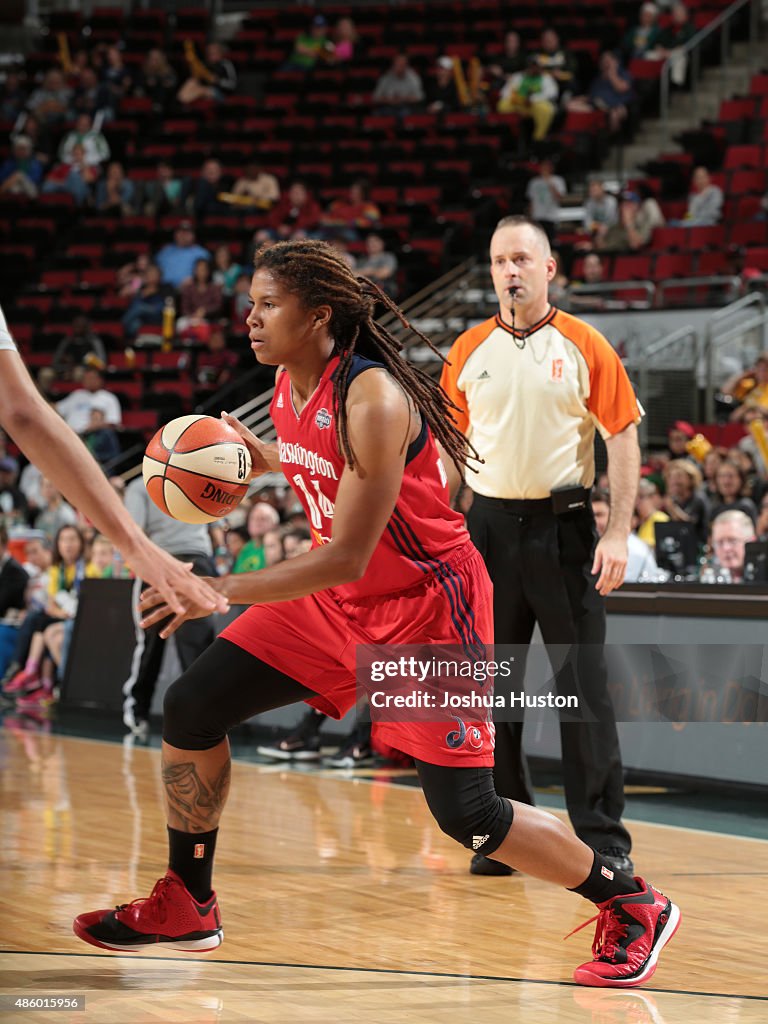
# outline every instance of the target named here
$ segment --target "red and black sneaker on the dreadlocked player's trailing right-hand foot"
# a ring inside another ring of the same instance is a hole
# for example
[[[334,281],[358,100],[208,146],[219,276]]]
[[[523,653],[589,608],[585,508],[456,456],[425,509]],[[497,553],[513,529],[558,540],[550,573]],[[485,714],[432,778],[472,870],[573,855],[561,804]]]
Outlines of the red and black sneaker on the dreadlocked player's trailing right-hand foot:
[[[592,963],[582,964],[573,972],[580,985],[632,988],[655,971],[658,954],[680,925],[680,910],[647,882],[636,881],[642,892],[598,903],[597,918],[573,930],[597,922]]]

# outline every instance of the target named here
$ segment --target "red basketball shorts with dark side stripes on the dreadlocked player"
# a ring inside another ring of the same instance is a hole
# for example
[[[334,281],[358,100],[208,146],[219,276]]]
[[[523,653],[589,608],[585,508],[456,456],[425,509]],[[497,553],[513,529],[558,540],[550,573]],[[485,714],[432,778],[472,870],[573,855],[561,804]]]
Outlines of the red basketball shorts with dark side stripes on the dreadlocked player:
[[[463,645],[472,637],[493,644],[493,588],[479,552],[467,544],[443,566],[439,578],[426,575],[407,590],[354,602],[321,591],[295,601],[254,604],[221,636],[314,690],[317,696],[307,703],[339,719],[358,696],[357,644]],[[439,722],[383,722],[377,734],[430,764],[493,765],[493,724],[472,721],[474,728],[466,728],[458,715],[447,722],[445,717]]]

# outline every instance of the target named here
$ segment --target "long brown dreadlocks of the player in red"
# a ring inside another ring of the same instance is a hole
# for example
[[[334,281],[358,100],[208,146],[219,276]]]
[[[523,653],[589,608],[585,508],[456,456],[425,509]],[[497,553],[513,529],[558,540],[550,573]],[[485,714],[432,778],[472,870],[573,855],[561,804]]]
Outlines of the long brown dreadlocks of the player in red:
[[[340,357],[333,382],[336,434],[350,469],[354,468],[354,453],[349,442],[346,398],[355,352],[384,364],[457,465],[466,466],[470,456],[478,458],[451,417],[451,410],[457,409],[451,398],[435,380],[400,355],[402,344],[373,318],[376,303],[386,306],[444,362],[442,354],[375,282],[356,276],[333,246],[310,240],[262,246],[254,257],[254,268],[268,270],[306,308],[331,306],[329,331],[334,353]]]

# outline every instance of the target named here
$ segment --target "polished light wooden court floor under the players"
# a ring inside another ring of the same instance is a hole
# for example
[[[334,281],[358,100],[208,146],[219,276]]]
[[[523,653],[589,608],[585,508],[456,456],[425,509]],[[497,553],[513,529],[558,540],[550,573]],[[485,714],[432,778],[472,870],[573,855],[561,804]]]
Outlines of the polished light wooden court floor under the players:
[[[213,954],[100,952],[83,910],[148,894],[163,873],[159,752],[0,730],[0,1021],[53,1024],[757,1024],[768,843],[633,824],[642,873],[683,923],[648,987],[580,988],[591,916],[575,896],[474,878],[417,790],[236,763]],[[85,995],[85,1010],[14,997]]]

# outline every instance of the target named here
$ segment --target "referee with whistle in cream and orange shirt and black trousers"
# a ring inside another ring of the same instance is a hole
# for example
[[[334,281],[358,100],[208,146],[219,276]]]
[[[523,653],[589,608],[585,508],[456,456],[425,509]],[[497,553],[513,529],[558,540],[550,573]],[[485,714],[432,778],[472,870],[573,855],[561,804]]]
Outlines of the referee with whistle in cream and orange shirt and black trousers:
[[[556,266],[536,221],[499,222],[490,240],[499,312],[457,339],[441,383],[483,460],[469,481],[468,525],[494,583],[496,642],[527,645],[538,623],[545,644],[582,645],[578,682],[598,721],[560,723],[565,801],[580,839],[632,872],[603,599],[627,567],[641,410],[605,338],[550,305]],[[610,519],[597,544],[589,501],[595,428],[607,447],[610,484]],[[532,804],[521,738],[521,722],[497,722],[496,786]],[[510,868],[475,854],[470,870]]]

